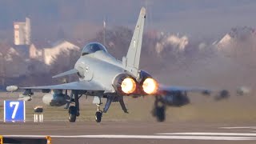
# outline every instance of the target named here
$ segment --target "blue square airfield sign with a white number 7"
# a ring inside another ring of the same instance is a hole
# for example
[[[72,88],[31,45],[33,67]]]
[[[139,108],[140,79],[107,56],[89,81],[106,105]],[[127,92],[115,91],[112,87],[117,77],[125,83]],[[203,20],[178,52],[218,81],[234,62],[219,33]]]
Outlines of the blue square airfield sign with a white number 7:
[[[4,101],[4,122],[25,122],[25,101]]]

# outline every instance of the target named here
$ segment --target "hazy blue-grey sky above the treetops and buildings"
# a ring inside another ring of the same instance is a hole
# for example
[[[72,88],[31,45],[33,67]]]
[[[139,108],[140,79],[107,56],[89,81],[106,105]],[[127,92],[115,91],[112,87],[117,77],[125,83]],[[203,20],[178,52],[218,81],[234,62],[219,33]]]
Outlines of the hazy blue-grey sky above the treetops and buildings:
[[[1,0],[0,30],[26,16],[34,25],[57,22],[65,29],[81,21],[101,26],[104,18],[108,26],[133,27],[141,6],[147,8],[146,29],[200,37],[256,26],[255,0]]]

